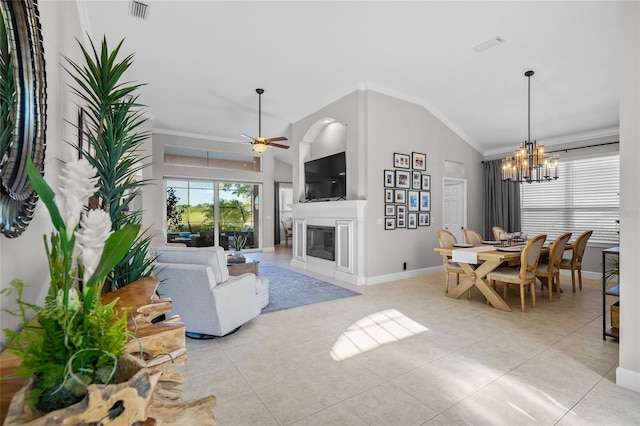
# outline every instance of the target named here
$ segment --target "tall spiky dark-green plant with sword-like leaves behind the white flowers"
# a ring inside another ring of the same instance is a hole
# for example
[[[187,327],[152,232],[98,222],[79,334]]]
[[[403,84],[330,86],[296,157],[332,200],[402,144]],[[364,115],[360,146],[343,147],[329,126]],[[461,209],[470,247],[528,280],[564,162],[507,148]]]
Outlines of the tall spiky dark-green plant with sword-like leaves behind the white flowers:
[[[98,170],[100,208],[111,217],[113,230],[129,224],[140,224],[141,211],[132,210],[130,204],[139,195],[148,180],[138,175],[149,164],[143,163],[148,156],[142,153],[142,144],[150,132],[140,127],[145,122],[143,105],[138,103],[136,91],[144,84],[123,82],[125,72],[133,63],[133,55],[118,61],[124,40],[110,50],[103,38],[100,51],[91,41],[87,51],[78,41],[85,63],[80,65],[65,57],[73,78],[75,93],[85,104],[88,123],[82,132],[89,147],[83,154]],[[111,287],[120,288],[138,278],[152,274],[153,258],[148,256],[151,239],[140,236],[132,250],[107,277]]]

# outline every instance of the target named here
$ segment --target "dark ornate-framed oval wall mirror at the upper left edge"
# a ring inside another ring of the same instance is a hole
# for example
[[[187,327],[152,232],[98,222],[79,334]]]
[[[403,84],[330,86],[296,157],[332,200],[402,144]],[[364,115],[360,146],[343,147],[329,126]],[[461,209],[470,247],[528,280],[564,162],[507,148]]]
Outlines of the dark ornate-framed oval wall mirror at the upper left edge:
[[[0,0],[0,232],[20,236],[37,194],[27,159],[44,174],[46,79],[36,0]]]

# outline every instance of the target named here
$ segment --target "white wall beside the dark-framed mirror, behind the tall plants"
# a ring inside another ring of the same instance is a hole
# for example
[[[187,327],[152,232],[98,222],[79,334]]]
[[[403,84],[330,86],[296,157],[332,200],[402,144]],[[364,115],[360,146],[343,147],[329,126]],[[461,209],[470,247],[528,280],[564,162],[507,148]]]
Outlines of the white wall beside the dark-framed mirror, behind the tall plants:
[[[61,67],[62,55],[80,61],[80,50],[75,37],[81,40],[82,31],[75,2],[39,2],[40,23],[44,43],[47,74],[47,129],[45,152],[45,179],[57,188],[60,162],[75,155],[65,142],[75,141],[77,108],[69,93],[69,77]],[[18,238],[0,236],[0,287],[8,288],[14,279],[21,279],[28,286],[26,301],[42,304],[49,286],[49,269],[42,236],[52,230],[49,213],[38,202],[33,221]],[[13,298],[1,296],[2,308],[15,309]],[[3,328],[15,329],[19,320],[5,312],[0,313]],[[4,338],[4,336],[2,336]]]

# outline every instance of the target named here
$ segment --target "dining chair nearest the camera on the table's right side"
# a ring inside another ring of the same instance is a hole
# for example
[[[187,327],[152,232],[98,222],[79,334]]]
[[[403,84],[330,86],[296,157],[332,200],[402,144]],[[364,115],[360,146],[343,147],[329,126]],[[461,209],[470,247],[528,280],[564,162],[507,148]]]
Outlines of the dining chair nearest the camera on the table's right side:
[[[487,279],[491,282],[491,285],[494,288],[496,281],[504,283],[503,297],[505,300],[507,300],[509,284],[520,286],[520,309],[522,312],[524,312],[525,286],[529,286],[531,288],[531,302],[533,307],[536,307],[535,272],[536,267],[538,266],[538,259],[540,259],[540,251],[542,250],[542,245],[546,239],[547,236],[545,234],[541,234],[529,240],[520,254],[520,269],[501,267],[487,275]]]

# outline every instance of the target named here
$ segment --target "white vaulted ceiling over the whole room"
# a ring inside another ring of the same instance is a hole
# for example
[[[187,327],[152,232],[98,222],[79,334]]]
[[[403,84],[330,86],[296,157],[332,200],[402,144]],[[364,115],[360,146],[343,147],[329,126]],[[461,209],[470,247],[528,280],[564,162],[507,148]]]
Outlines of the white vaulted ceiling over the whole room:
[[[79,3],[94,41],[135,54],[128,79],[158,131],[242,141],[357,89],[420,105],[484,155],[617,133],[617,1],[129,1]],[[504,42],[477,53],[494,37]],[[295,143],[289,141],[287,143]],[[284,150],[278,150],[285,152]]]

